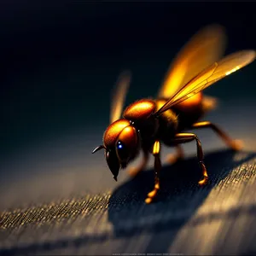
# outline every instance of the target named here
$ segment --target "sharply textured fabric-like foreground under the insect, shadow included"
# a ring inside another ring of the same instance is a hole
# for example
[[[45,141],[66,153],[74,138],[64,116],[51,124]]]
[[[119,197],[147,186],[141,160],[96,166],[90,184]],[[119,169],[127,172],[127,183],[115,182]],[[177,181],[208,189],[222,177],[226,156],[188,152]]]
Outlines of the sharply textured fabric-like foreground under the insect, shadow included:
[[[158,201],[145,205],[154,172],[113,193],[82,195],[1,214],[1,254],[247,254],[256,247],[256,154],[207,154],[211,183],[197,186],[193,157],[161,172]]]

